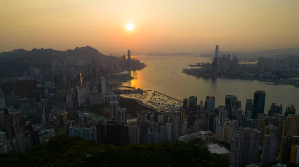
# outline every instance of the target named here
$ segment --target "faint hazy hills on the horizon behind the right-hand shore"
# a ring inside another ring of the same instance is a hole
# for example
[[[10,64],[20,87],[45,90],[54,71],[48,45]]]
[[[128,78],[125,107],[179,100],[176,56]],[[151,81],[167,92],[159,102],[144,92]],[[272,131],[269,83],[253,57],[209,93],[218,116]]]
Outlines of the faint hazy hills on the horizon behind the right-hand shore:
[[[285,56],[299,56],[299,47],[297,48],[284,48],[284,49],[269,49],[254,52],[222,52],[219,51],[219,56],[221,55],[237,55],[237,57],[242,58],[258,58],[258,57],[275,57],[275,55],[285,55]],[[215,53],[204,54],[202,57],[214,57]]]

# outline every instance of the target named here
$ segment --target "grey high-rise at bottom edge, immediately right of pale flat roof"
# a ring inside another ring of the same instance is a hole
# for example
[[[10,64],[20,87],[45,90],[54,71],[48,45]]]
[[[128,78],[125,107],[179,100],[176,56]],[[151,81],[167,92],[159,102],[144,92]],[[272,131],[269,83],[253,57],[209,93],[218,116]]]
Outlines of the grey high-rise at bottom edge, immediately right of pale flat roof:
[[[243,135],[238,133],[231,139],[229,167],[241,167],[242,150]]]

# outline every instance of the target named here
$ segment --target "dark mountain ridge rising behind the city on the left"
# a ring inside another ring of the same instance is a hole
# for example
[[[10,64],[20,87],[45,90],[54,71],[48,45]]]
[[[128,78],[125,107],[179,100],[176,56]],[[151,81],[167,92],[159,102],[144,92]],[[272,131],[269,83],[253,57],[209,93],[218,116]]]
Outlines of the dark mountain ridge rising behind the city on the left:
[[[90,60],[93,57],[108,57],[98,50],[86,46],[76,47],[74,50],[59,51],[53,49],[15,49],[10,52],[0,53],[0,78],[22,76],[24,72],[30,74],[30,67],[42,71],[51,68],[52,60],[63,62],[66,56],[74,60]]]

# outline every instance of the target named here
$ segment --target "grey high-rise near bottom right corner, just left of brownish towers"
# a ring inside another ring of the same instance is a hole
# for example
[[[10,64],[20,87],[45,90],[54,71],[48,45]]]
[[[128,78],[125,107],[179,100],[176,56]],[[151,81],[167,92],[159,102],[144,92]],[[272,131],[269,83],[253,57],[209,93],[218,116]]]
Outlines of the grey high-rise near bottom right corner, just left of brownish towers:
[[[278,137],[273,135],[265,135],[262,153],[263,165],[276,162],[277,148]]]

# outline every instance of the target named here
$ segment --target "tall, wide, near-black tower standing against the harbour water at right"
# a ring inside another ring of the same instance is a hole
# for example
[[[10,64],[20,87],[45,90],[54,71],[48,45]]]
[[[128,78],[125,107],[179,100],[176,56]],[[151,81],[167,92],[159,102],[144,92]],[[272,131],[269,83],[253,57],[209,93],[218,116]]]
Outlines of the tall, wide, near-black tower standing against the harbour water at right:
[[[253,114],[252,118],[257,119],[259,113],[263,113],[265,110],[266,93],[264,90],[257,90],[254,92],[253,98]]]

